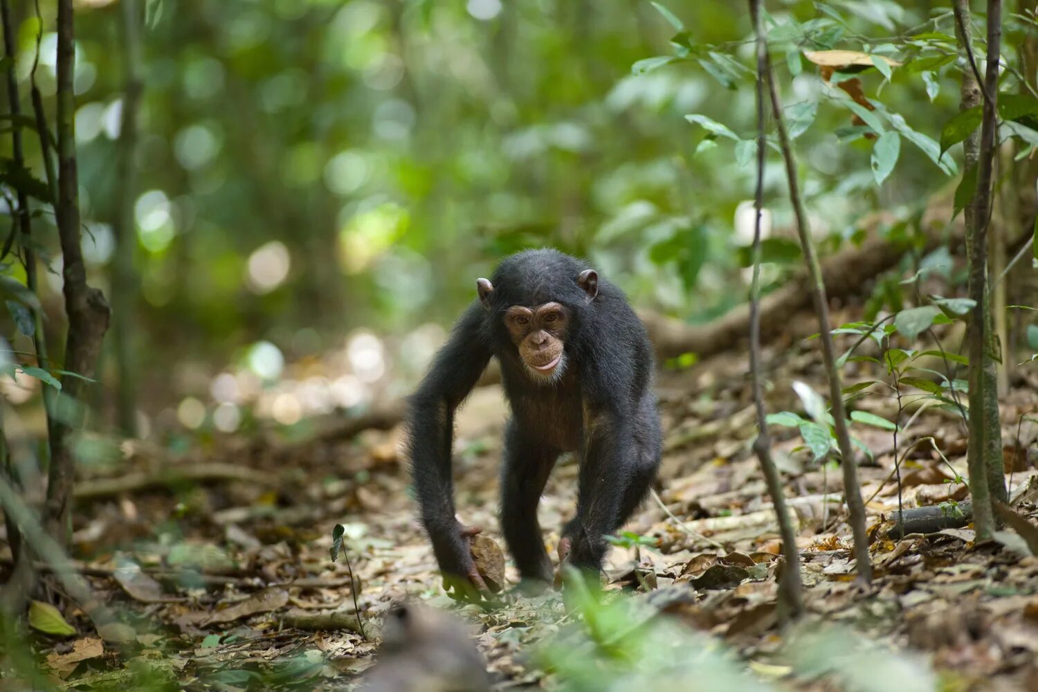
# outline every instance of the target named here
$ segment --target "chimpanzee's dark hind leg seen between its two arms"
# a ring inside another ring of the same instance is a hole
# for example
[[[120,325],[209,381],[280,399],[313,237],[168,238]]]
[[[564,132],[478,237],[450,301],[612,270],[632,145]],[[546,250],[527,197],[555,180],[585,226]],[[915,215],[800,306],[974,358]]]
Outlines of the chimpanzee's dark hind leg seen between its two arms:
[[[515,421],[509,422],[501,474],[501,531],[523,579],[550,582],[552,578],[537,505],[556,459],[556,449],[543,446]]]

